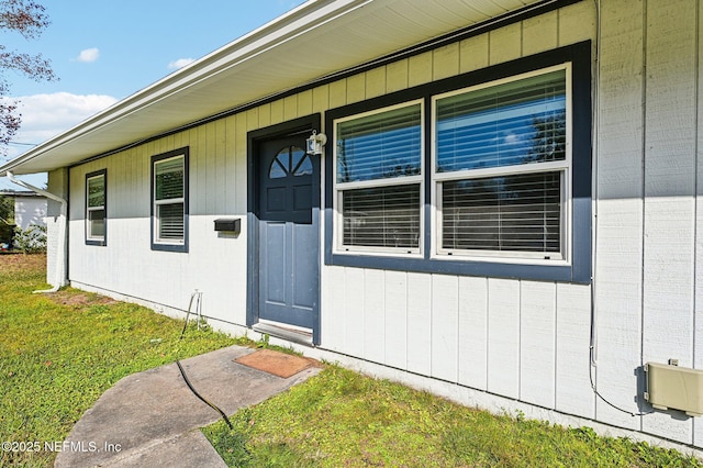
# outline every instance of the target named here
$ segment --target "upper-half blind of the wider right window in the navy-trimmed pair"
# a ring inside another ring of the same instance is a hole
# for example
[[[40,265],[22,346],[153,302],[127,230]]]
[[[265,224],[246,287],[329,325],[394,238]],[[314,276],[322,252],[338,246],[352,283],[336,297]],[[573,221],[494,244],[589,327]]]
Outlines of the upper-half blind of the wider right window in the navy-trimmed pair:
[[[437,100],[436,170],[566,157],[566,71]]]

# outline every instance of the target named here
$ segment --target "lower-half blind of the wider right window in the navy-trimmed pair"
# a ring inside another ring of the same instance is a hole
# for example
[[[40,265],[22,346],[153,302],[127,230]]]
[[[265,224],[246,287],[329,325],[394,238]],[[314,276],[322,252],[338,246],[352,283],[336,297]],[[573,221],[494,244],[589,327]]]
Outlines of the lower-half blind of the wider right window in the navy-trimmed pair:
[[[559,171],[442,183],[442,246],[558,253]]]

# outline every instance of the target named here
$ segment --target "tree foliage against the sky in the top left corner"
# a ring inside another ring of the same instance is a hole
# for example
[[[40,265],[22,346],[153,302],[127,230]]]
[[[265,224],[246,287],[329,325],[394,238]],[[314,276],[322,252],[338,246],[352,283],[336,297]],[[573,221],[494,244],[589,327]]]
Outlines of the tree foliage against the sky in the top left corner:
[[[20,33],[26,40],[38,37],[49,25],[45,8],[34,0],[0,0],[0,29]],[[35,81],[56,79],[49,60],[42,54],[29,55],[8,51],[0,45],[0,152],[5,153],[8,143],[20,129],[22,115],[18,112],[19,100],[8,98],[10,81],[7,70],[19,71]]]

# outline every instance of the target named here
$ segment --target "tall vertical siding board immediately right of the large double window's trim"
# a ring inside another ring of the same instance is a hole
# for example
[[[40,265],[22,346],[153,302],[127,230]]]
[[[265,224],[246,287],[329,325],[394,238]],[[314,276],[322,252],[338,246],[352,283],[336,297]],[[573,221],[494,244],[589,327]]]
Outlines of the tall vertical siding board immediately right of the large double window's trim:
[[[643,27],[640,0],[603,2],[599,82],[595,263],[598,319],[594,382],[613,404],[637,412],[641,350]],[[596,401],[600,421],[639,421]]]

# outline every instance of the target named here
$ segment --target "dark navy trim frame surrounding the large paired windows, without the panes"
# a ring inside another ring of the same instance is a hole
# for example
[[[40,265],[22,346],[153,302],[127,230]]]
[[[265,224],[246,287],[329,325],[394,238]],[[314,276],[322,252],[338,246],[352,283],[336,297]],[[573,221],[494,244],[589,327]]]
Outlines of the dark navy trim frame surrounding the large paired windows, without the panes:
[[[481,276],[495,278],[515,278],[529,280],[548,280],[561,282],[590,283],[592,279],[592,99],[591,99],[591,41],[559,47],[536,55],[522,57],[498,64],[480,70],[421,85],[406,90],[393,92],[379,98],[332,109],[325,113],[325,129],[332,136],[326,145],[325,158],[325,264],[359,268],[390,269],[417,272]],[[432,191],[435,183],[432,179],[432,99],[437,94],[456,91],[477,85],[529,74],[540,69],[570,63],[571,67],[571,210],[568,213],[570,223],[570,258],[568,264],[521,263],[511,259],[487,257],[472,258],[436,258],[432,253],[436,249],[433,243],[439,239],[433,235]],[[373,255],[369,253],[335,252],[335,191],[334,191],[334,122],[345,116],[361,114],[372,110],[401,104],[403,102],[424,99],[425,110],[423,127],[424,166],[423,174],[424,205],[424,248],[422,258],[394,256],[392,254]]]

